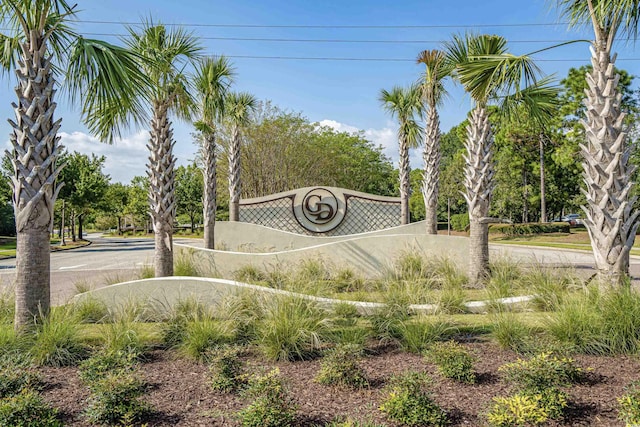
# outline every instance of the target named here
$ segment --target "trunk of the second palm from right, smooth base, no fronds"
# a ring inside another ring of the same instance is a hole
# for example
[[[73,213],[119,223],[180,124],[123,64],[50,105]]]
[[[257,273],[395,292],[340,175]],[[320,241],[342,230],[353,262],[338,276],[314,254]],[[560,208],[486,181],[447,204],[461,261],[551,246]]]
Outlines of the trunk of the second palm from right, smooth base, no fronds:
[[[484,105],[478,105],[469,117],[465,143],[465,188],[469,208],[469,280],[481,285],[489,272],[489,232],[487,217],[493,193],[493,137]]]

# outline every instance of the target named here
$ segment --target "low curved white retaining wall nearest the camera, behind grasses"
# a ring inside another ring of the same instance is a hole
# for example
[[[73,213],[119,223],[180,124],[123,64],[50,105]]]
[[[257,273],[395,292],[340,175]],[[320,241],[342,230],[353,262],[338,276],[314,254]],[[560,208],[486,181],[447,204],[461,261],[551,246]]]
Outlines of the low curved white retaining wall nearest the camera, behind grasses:
[[[374,302],[343,301],[330,298],[302,295],[280,289],[266,288],[225,279],[209,279],[202,277],[163,277],[155,279],[134,280],[119,283],[93,291],[76,295],[75,301],[93,298],[104,302],[109,307],[124,307],[131,302],[156,303],[159,307],[169,309],[175,303],[189,298],[208,306],[214,306],[225,297],[241,292],[259,292],[263,296],[295,296],[317,302],[321,307],[330,309],[336,304],[351,304],[362,315],[375,313],[384,304]],[[501,298],[496,300],[511,306],[523,306],[532,299],[531,296]],[[465,303],[470,313],[484,313],[488,302],[472,301]],[[416,313],[433,314],[437,311],[436,304],[411,305],[410,309]]]

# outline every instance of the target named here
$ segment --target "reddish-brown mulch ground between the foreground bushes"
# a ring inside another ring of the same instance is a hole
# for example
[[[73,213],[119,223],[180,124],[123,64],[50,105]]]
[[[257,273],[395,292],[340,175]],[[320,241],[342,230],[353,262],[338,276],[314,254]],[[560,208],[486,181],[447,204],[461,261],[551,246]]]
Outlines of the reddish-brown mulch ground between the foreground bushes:
[[[428,372],[434,379],[434,399],[452,419],[452,426],[481,426],[494,396],[505,396],[511,387],[500,378],[498,368],[518,356],[492,343],[465,344],[478,356],[479,383],[463,385],[440,377],[435,367],[421,356],[395,348],[381,348],[361,362],[370,387],[353,391],[330,388],[313,381],[319,360],[271,363],[259,355],[246,357],[251,372],[278,367],[298,405],[298,425],[322,426],[339,417],[351,416],[393,426],[378,410],[389,376],[406,370]],[[623,426],[617,419],[616,398],[624,387],[640,379],[640,360],[634,357],[575,356],[577,364],[592,368],[588,380],[567,389],[570,407],[567,416],[552,426]],[[212,391],[204,364],[178,358],[175,353],[155,351],[142,365],[149,389],[145,400],[155,414],[149,426],[236,426],[234,414],[246,402],[235,395]],[[89,425],[82,417],[88,396],[76,368],[42,368],[45,398],[57,407],[65,426]]]

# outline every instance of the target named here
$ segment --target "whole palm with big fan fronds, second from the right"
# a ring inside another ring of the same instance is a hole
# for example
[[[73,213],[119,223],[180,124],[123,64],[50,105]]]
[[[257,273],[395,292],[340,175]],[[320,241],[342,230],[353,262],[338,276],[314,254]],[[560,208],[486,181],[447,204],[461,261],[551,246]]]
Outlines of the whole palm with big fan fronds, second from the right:
[[[465,189],[470,220],[469,279],[480,285],[489,272],[488,225],[493,194],[493,134],[488,106],[499,102],[498,111],[509,117],[523,105],[532,118],[552,114],[555,90],[547,78],[536,81],[539,70],[529,55],[507,52],[507,41],[495,35],[456,35],[445,44],[454,77],[474,102],[469,116],[465,147]]]

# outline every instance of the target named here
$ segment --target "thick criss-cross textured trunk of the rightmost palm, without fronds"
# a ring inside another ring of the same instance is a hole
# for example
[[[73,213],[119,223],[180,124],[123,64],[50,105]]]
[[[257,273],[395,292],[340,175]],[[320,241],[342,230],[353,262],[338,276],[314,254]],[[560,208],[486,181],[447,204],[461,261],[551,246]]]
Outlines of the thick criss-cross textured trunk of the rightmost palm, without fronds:
[[[583,121],[588,146],[580,145],[587,187],[583,190],[587,206],[582,209],[600,284],[612,286],[623,283],[628,275],[639,211],[633,209],[637,197],[629,196],[634,167],[628,163],[631,151],[623,130],[625,113],[620,111],[620,76],[604,40],[594,43],[591,63]]]

